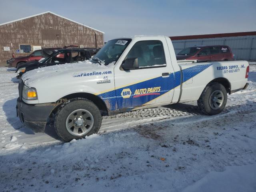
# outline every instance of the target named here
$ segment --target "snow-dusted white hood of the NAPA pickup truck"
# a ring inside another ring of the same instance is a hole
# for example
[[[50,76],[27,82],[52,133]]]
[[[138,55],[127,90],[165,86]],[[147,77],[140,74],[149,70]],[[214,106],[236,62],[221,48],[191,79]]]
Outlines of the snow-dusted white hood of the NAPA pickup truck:
[[[22,75],[22,80],[26,86],[36,87],[39,84],[52,84],[56,82],[66,82],[74,78],[90,80],[95,78],[99,72],[113,70],[114,64],[108,66],[95,64],[86,60],[78,63],[67,63],[54,66],[46,66],[28,71]]]

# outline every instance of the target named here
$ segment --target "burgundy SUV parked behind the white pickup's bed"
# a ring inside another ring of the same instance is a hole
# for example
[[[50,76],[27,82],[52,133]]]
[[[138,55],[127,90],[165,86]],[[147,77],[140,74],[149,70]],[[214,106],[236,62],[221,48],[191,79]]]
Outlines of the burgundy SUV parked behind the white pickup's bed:
[[[194,46],[184,48],[176,55],[177,60],[232,61],[234,56],[229,46]]]

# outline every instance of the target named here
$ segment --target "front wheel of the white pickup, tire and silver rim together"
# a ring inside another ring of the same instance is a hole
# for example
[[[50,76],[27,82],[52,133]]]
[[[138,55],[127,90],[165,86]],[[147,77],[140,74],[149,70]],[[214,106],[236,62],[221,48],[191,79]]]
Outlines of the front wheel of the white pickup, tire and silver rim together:
[[[97,133],[101,126],[101,114],[90,100],[74,98],[59,108],[54,121],[57,134],[64,141],[80,139]]]

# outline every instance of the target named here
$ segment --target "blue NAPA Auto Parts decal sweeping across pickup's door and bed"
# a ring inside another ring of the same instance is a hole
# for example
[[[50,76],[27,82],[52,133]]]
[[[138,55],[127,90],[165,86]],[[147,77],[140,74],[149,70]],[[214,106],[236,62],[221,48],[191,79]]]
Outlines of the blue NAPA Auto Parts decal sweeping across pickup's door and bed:
[[[105,92],[99,94],[98,96],[106,103],[108,110],[116,110],[122,108],[128,108],[127,110],[132,110],[135,107],[142,106],[143,104],[158,98],[159,96],[165,94],[166,92],[179,86],[181,82],[186,82],[190,78],[196,76],[212,64],[197,65],[190,68],[182,70],[182,80],[181,72],[177,71],[170,74],[169,77],[163,78],[162,76],[132,84],[130,86],[125,86],[116,90]],[[154,89],[156,88],[156,89]],[[145,92],[143,92],[143,89]],[[122,91],[125,90],[124,93]],[[148,93],[147,90],[156,90],[154,93]],[[159,91],[160,90],[160,91]],[[128,92],[131,94],[127,95]],[[138,96],[140,93],[141,95]]]

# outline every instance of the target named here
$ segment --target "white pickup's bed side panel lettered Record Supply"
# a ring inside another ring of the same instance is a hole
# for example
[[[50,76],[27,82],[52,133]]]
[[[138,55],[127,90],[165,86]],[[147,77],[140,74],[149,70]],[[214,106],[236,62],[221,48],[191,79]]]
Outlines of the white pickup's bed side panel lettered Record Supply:
[[[247,79],[247,61],[224,61],[224,62],[203,62],[186,63],[178,66],[181,71],[181,96],[180,102],[198,100],[206,84],[214,80],[226,81],[232,93],[235,90],[244,88]]]

